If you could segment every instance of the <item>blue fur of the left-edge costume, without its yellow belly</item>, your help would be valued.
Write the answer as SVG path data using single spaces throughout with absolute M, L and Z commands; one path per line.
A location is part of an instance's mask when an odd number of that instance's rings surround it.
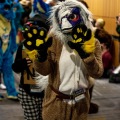
M 16 44 L 16 28 L 14 23 L 15 13 L 13 11 L 12 2 L 12 0 L 5 0 L 4 3 L 0 3 L 0 14 L 10 20 L 11 23 L 9 44 L 5 53 L 2 51 L 2 41 L 0 38 L 0 74 L 3 73 L 3 80 L 7 89 L 7 94 L 9 96 L 17 96 L 18 92 L 15 88 L 14 74 L 12 71 L 14 59 L 13 54 L 18 47 Z M 9 9 L 5 9 L 6 5 Z

